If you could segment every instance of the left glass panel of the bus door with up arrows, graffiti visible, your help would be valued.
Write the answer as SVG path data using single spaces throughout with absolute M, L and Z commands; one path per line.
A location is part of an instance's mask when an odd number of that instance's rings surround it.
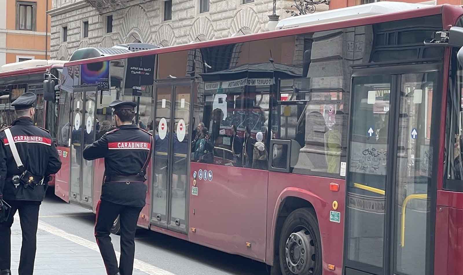
M 355 77 L 347 182 L 347 258 L 383 265 L 391 77 Z

